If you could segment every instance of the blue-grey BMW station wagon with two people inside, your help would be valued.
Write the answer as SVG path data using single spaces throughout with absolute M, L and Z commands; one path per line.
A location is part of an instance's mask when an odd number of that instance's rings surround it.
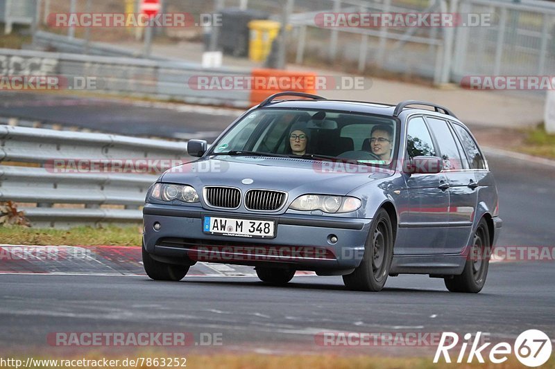
M 198 159 L 162 174 L 144 206 L 143 262 L 181 280 L 196 262 L 255 267 L 281 285 L 296 271 L 381 290 L 428 274 L 479 292 L 502 220 L 484 154 L 454 114 L 398 105 L 270 96 Z

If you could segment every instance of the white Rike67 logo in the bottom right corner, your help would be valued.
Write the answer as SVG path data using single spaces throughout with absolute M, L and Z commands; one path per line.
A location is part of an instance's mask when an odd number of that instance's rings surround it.
M 549 336 L 540 330 L 522 332 L 512 346 L 507 342 L 499 342 L 493 347 L 489 347 L 492 344 L 490 342 L 480 345 L 483 342 L 481 341 L 481 332 L 477 332 L 475 337 L 467 333 L 464 335 L 464 340 L 466 342 L 459 345 L 459 334 L 443 332 L 434 363 L 438 363 L 442 356 L 447 363 L 451 363 L 452 360 L 456 363 L 463 363 L 469 345 L 470 350 L 468 350 L 466 363 L 472 363 L 475 360 L 484 363 L 484 357 L 488 357 L 491 363 L 499 364 L 504 363 L 511 354 L 514 354 L 518 361 L 525 366 L 537 367 L 549 360 L 552 352 L 552 342 Z M 451 354 L 456 354 L 456 356 L 452 359 Z

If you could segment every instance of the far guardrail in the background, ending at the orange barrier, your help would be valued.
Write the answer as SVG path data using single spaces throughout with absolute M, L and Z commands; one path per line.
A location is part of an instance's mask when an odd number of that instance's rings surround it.
M 189 85 L 189 80 L 199 76 L 241 78 L 250 74 L 250 69 L 203 69 L 199 64 L 171 60 L 0 49 L 0 75 L 58 75 L 68 81 L 94 78 L 94 87 L 86 91 L 191 104 L 250 107 L 249 90 Z

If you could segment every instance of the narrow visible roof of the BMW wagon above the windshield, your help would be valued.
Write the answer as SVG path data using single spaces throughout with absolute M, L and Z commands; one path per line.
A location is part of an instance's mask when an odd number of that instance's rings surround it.
M 268 108 L 283 108 L 283 109 L 326 109 L 326 110 L 339 110 L 339 111 L 349 111 L 352 113 L 364 113 L 364 114 L 378 114 L 383 116 L 393 117 L 393 112 L 395 111 L 396 105 L 390 105 L 381 102 L 364 102 L 364 101 L 352 101 L 352 100 L 273 100 L 273 102 L 259 109 Z M 430 114 L 434 116 L 441 116 L 443 118 L 449 118 L 451 120 L 456 120 L 454 116 L 448 114 L 443 114 L 438 111 L 429 109 L 418 109 L 413 107 L 406 107 L 403 109 L 399 116 L 404 116 L 405 114 L 421 113 Z

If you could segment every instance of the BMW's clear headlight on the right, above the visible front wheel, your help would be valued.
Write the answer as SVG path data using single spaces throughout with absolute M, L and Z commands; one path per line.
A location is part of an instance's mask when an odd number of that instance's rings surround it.
M 322 210 L 325 213 L 348 213 L 360 208 L 362 202 L 356 197 L 331 195 L 302 195 L 289 206 L 294 210 Z

